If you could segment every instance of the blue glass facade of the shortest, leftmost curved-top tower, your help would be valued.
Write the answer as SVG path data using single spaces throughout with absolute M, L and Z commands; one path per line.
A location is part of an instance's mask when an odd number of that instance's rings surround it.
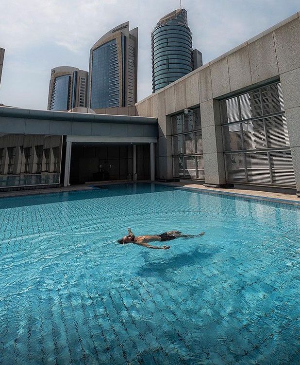
M 54 79 L 50 110 L 68 110 L 70 101 L 71 76 L 63 75 Z

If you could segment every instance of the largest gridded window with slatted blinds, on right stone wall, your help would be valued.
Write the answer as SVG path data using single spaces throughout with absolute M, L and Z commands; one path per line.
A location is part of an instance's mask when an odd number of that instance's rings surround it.
M 281 84 L 220 105 L 227 181 L 295 187 Z

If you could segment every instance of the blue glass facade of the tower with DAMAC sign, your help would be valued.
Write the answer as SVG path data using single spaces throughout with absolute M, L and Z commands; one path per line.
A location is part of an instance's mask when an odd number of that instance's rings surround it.
M 90 107 L 119 107 L 120 77 L 116 39 L 93 50 L 92 57 Z

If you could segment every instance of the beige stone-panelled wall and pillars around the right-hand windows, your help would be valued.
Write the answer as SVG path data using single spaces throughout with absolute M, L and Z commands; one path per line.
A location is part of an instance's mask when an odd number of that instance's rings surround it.
M 292 159 L 300 191 L 300 19 L 283 20 L 137 103 L 139 116 L 158 118 L 159 178 L 171 179 L 172 114 L 200 105 L 205 183 L 226 183 L 217 99 L 280 80 Z

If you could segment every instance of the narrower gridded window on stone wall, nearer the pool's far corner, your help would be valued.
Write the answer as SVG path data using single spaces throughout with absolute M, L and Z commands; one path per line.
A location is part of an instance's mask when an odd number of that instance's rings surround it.
M 200 109 L 171 117 L 173 175 L 204 180 Z

